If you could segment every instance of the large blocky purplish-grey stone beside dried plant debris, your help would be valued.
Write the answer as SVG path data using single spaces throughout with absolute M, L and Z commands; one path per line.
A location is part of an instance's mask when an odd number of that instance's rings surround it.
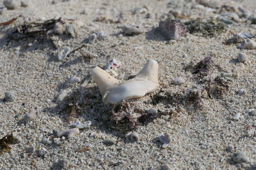
M 186 29 L 178 20 L 166 20 L 159 22 L 159 31 L 166 39 L 179 40 L 186 35 Z

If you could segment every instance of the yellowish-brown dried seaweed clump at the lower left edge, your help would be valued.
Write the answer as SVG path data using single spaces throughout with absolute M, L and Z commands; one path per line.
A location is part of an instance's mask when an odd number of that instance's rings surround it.
M 19 139 L 15 138 L 13 134 L 8 134 L 0 139 L 0 154 L 10 152 L 10 145 L 19 143 Z

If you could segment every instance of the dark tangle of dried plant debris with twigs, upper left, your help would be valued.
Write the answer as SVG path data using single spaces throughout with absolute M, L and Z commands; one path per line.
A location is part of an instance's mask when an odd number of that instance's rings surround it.
M 24 24 L 19 25 L 8 34 L 8 43 L 10 41 L 19 41 L 20 39 L 49 39 L 50 31 L 54 29 L 55 24 L 61 23 L 61 18 L 46 20 L 45 22 L 24 22 Z

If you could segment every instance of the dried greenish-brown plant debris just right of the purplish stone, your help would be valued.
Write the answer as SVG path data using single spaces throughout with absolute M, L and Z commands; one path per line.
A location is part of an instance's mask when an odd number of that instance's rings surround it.
M 184 25 L 190 34 L 196 36 L 213 37 L 218 36 L 226 31 L 226 26 L 221 22 L 214 22 L 213 20 L 189 20 L 184 22 Z

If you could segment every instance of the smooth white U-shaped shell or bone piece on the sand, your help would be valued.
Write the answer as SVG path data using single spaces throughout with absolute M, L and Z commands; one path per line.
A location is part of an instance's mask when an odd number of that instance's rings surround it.
M 156 60 L 148 60 L 137 76 L 123 83 L 99 67 L 92 70 L 92 77 L 99 87 L 102 101 L 117 103 L 126 99 L 143 97 L 155 90 L 158 86 L 158 64 Z

